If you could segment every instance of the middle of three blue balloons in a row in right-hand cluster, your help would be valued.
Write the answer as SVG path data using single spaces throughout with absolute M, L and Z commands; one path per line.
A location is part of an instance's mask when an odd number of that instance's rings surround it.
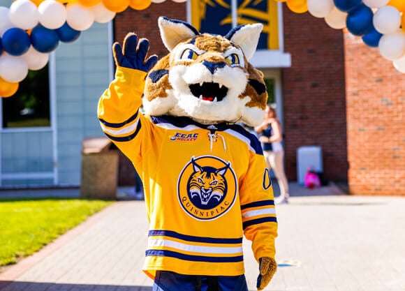
M 346 27 L 355 36 L 364 36 L 373 29 L 373 11 L 369 6 L 360 5 L 346 17 Z

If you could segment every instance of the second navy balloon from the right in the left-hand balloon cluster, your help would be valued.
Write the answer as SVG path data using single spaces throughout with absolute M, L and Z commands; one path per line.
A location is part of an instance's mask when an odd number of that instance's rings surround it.
M 38 52 L 52 52 L 59 45 L 58 33 L 38 24 L 31 31 L 31 44 Z

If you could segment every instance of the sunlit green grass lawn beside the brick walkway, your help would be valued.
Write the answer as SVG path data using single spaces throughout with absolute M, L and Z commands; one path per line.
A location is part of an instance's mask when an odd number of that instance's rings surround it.
M 0 266 L 35 253 L 111 203 L 80 199 L 1 200 Z

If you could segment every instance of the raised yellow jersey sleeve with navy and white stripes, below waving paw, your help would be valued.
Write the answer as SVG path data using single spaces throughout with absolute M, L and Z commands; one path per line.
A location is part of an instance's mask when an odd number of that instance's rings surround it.
M 115 79 L 98 101 L 103 132 L 134 164 L 142 158 L 142 147 L 147 148 L 152 140 L 152 124 L 140 113 L 146 75 L 141 70 L 117 67 Z

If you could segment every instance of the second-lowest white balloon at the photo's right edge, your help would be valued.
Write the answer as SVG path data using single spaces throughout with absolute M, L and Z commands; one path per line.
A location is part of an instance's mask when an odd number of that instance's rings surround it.
M 405 54 L 405 32 L 399 30 L 396 33 L 384 34 L 378 43 L 378 50 L 385 59 L 399 59 Z

